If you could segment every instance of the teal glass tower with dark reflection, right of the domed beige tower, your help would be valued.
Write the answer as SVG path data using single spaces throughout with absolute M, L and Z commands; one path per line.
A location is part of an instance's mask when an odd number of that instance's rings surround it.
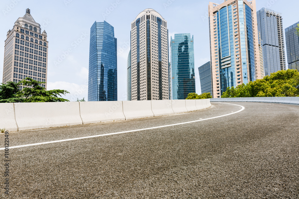
M 175 34 L 170 38 L 171 48 L 171 96 L 172 99 L 186 99 L 195 92 L 193 36 Z

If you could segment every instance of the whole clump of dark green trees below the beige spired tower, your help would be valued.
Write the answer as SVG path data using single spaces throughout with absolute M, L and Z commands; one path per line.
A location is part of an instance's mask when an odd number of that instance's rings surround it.
M 23 89 L 19 90 L 21 84 Z M 68 91 L 46 90 L 40 84 L 45 84 L 45 82 L 36 81 L 28 77 L 18 83 L 7 82 L 7 84 L 2 84 L 0 86 L 0 103 L 69 101 L 61 97 L 61 95 L 69 93 Z

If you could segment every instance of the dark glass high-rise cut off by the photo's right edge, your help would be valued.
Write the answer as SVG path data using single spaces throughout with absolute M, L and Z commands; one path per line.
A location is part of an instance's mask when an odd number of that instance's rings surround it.
M 296 27 L 299 21 L 286 28 L 286 53 L 288 56 L 288 68 L 299 71 L 299 36 Z

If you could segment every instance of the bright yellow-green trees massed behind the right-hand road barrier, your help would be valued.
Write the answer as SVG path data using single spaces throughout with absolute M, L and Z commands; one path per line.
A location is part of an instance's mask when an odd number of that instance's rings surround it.
M 247 85 L 228 87 L 221 97 L 296 97 L 299 96 L 298 85 L 298 70 L 280 70 Z

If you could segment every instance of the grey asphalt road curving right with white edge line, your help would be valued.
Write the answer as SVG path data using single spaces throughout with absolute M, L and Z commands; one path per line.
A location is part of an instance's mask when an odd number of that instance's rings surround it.
M 179 115 L 12 132 L 9 197 L 299 198 L 299 106 L 212 102 Z M 4 134 L 0 134 L 0 148 Z M 0 150 L 4 155 L 4 150 Z M 4 156 L 2 156 L 4 160 Z M 3 163 L 3 161 L 2 161 Z

